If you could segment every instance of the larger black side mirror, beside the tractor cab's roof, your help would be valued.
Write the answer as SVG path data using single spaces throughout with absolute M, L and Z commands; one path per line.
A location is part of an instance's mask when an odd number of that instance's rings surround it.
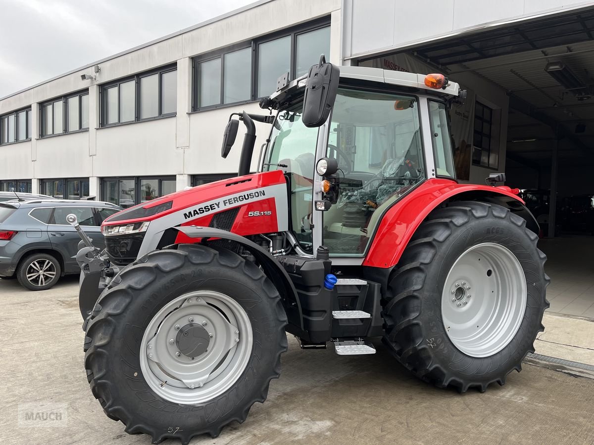
M 318 65 L 309 68 L 301 116 L 305 126 L 319 127 L 326 122 L 336 100 L 339 78 L 338 66 L 326 63 L 324 55 L 320 56 Z

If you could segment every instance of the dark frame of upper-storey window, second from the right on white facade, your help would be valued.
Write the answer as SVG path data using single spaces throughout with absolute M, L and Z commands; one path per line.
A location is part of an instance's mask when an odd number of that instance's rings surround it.
M 163 117 L 171 117 L 171 116 L 176 116 L 177 110 L 175 110 L 175 112 L 171 112 L 171 113 L 163 113 L 163 100 L 162 100 L 162 88 L 163 88 L 163 80 L 162 80 L 162 75 L 168 72 L 172 72 L 178 71 L 178 65 L 177 63 L 173 63 L 173 64 L 169 64 L 169 65 L 165 65 L 165 66 L 161 66 L 160 68 L 156 68 L 156 69 L 151 69 L 150 71 L 143 71 L 131 76 L 127 76 L 127 77 L 123 77 L 121 79 L 112 81 L 112 82 L 107 82 L 105 84 L 99 85 L 99 104 L 100 104 L 100 113 L 99 113 L 99 128 L 106 128 L 106 127 L 112 127 L 112 126 L 117 126 L 117 125 L 126 125 L 128 123 L 134 123 L 134 122 L 146 122 L 147 120 L 155 120 L 155 119 L 163 119 Z M 149 77 L 151 75 L 157 75 L 157 116 L 151 116 L 151 117 L 144 117 L 144 119 L 142 119 L 140 117 L 140 110 L 141 110 L 141 106 L 142 106 L 142 98 L 141 98 L 141 90 L 140 90 L 140 80 L 141 78 L 144 77 Z M 126 82 L 129 81 L 134 81 L 134 119 L 133 120 L 126 120 L 125 122 L 121 122 L 121 116 L 120 116 L 120 112 L 121 112 L 121 93 L 120 93 L 120 87 L 121 84 L 125 84 Z M 107 123 L 107 116 L 108 116 L 108 106 L 107 106 L 107 101 L 108 101 L 108 97 L 107 94 L 105 94 L 105 91 L 108 90 L 109 88 L 112 87 L 118 87 L 118 122 L 113 122 L 113 123 Z M 176 88 L 179 85 L 176 84 Z M 175 98 L 175 101 L 177 103 L 177 95 Z

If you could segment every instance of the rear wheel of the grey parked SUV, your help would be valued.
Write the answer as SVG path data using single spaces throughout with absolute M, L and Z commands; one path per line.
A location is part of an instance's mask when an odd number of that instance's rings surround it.
M 31 291 L 43 291 L 53 287 L 62 269 L 59 261 L 48 253 L 34 253 L 23 259 L 17 268 L 19 284 Z

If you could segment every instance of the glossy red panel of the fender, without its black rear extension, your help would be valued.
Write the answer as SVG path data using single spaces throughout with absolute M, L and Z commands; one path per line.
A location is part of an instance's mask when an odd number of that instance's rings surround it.
M 406 244 L 431 211 L 447 199 L 464 192 L 504 195 L 525 204 L 510 187 L 458 184 L 448 179 L 429 179 L 388 209 L 371 241 L 364 266 L 391 268 L 400 260 Z

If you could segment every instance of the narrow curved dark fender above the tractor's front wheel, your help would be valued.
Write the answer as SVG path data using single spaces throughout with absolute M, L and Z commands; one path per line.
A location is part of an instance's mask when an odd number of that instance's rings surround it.
M 200 226 L 175 227 L 175 229 L 179 230 L 186 237 L 204 240 L 207 245 L 207 240 L 210 238 L 224 239 L 235 241 L 249 250 L 264 269 L 264 274 L 268 276 L 279 291 L 289 324 L 299 326 L 303 329 L 301 304 L 299 303 L 299 298 L 297 298 L 295 285 L 293 285 L 293 282 L 289 278 L 289 274 L 287 274 L 285 269 L 283 269 L 280 263 L 270 253 L 247 238 L 226 230 Z

